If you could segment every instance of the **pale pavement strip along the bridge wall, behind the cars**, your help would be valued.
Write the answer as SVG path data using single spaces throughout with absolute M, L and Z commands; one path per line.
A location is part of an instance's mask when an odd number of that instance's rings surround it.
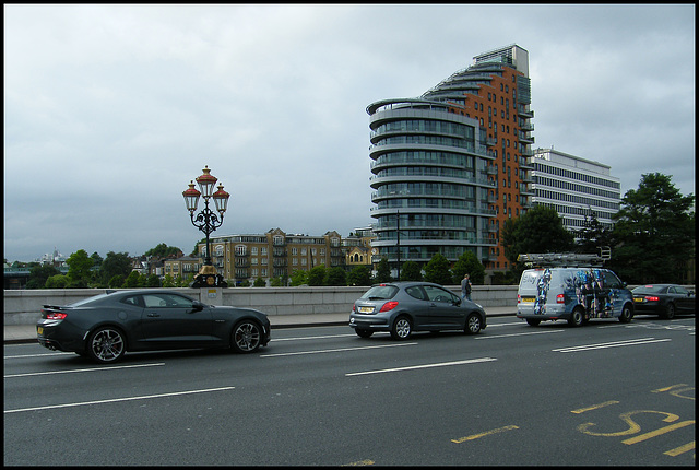
M 514 316 L 514 307 L 488 307 L 485 309 L 488 317 Z M 350 313 L 346 314 L 298 314 L 298 315 L 270 315 L 272 329 L 324 327 L 331 325 L 348 325 Z M 32 343 L 36 341 L 36 325 L 5 325 L 4 343 Z

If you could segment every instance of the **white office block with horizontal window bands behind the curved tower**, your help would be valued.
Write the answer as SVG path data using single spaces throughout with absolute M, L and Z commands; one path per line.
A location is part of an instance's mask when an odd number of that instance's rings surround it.
M 536 149 L 531 172 L 534 190 L 532 205 L 550 207 L 569 231 L 579 231 L 594 215 L 605 227 L 621 200 L 619 178 L 609 166 L 552 149 Z

